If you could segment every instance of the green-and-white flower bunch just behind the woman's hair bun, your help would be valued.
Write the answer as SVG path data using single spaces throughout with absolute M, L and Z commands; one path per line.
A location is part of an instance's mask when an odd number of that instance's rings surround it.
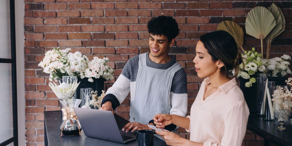
M 237 77 L 249 79 L 249 81 L 245 83 L 246 87 L 251 87 L 252 84 L 256 82 L 256 73 L 261 72 L 263 67 L 262 55 L 258 54 L 255 50 L 255 48 L 252 48 L 252 51 L 244 51 L 244 54 L 241 54 L 243 63 L 239 65 Z

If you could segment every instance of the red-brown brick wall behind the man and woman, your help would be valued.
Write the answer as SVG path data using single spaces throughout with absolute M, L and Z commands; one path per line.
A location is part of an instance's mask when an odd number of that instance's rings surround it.
M 274 41 L 271 58 L 291 55 L 292 2 L 276 1 L 286 18 L 286 30 Z M 44 145 L 44 111 L 60 110 L 58 99 L 48 86 L 48 75 L 38 63 L 53 47 L 72 48 L 90 59 L 108 57 L 115 69 L 112 86 L 126 61 L 149 51 L 147 21 L 151 17 L 175 17 L 181 29 L 170 54 L 187 73 L 189 111 L 202 79 L 196 76 L 192 62 L 199 36 L 216 30 L 223 20 L 233 20 L 244 28 L 246 14 L 255 6 L 270 6 L 271 1 L 252 0 L 25 0 L 25 118 L 27 146 Z M 260 45 L 246 35 L 244 48 Z M 260 51 L 258 49 L 258 51 Z M 116 113 L 129 118 L 129 98 Z M 180 128 L 181 137 L 189 134 Z M 243 146 L 263 145 L 263 138 L 247 130 Z

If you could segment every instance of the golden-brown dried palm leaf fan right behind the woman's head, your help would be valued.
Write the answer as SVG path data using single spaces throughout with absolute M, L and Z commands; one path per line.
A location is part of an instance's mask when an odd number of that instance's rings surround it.
M 230 35 L 232 35 L 236 41 L 237 48 L 241 48 L 241 50 L 244 52 L 244 49 L 242 47 L 244 32 L 237 23 L 228 20 L 222 21 L 217 27 L 217 31 L 218 30 L 224 30 L 225 32 L 228 32 Z

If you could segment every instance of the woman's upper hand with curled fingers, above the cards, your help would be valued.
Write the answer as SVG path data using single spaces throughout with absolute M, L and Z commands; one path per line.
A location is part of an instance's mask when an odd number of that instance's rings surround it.
M 157 114 L 153 117 L 153 120 L 154 124 L 159 128 L 164 128 L 172 123 L 172 117 L 170 114 Z

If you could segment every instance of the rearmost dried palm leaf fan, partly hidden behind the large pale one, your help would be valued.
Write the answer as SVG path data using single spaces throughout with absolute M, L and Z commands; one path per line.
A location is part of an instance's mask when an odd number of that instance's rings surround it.
M 269 59 L 271 44 L 274 39 L 285 30 L 285 18 L 281 9 L 276 6 L 274 3 L 268 8 L 269 11 L 273 14 L 276 20 L 276 26 L 272 31 L 267 35 L 265 41 L 267 42 L 267 59 Z

